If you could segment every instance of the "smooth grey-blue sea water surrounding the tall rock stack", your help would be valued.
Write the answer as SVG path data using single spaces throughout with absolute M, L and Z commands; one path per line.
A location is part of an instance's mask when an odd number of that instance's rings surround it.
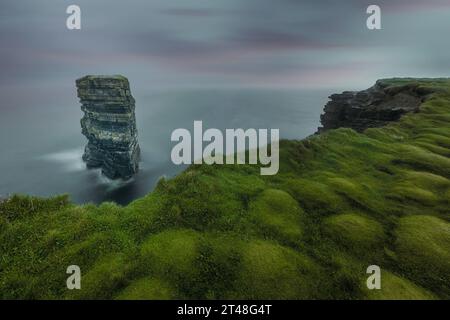
M 135 94 L 140 172 L 130 181 L 110 181 L 81 160 L 85 137 L 76 97 L 67 105 L 37 99 L 37 104 L 2 109 L 0 117 L 0 196 L 25 193 L 50 196 L 68 193 L 77 203 L 105 200 L 126 204 L 151 191 L 162 176 L 184 167 L 173 165 L 170 135 L 207 128 L 278 128 L 281 138 L 301 139 L 319 126 L 330 91 L 182 90 Z

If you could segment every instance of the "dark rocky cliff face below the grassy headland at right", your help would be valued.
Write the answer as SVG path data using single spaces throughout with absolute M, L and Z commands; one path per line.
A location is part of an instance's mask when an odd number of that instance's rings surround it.
M 320 116 L 318 133 L 341 127 L 362 132 L 384 126 L 407 112 L 416 112 L 431 93 L 415 84 L 392 86 L 379 80 L 367 90 L 333 94 Z

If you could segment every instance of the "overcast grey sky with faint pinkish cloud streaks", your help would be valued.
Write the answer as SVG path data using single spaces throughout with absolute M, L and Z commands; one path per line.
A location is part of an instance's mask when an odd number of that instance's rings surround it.
M 70 4 L 82 30 L 66 29 Z M 370 4 L 382 30 L 366 28 Z M 449 33 L 450 0 L 1 0 L 0 95 L 57 94 L 85 74 L 138 90 L 359 89 L 449 76 Z

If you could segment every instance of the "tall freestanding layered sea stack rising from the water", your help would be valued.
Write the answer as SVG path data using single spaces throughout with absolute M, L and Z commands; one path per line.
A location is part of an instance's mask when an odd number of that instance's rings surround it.
M 135 100 L 123 76 L 85 76 L 76 81 L 88 139 L 83 160 L 111 179 L 127 179 L 139 168 Z

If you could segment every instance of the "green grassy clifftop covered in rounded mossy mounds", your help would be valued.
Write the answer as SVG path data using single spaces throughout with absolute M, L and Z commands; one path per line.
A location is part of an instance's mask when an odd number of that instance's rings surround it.
M 126 207 L 3 201 L 0 298 L 449 299 L 450 80 L 386 82 L 436 93 L 384 128 L 282 141 L 276 176 L 201 165 Z

